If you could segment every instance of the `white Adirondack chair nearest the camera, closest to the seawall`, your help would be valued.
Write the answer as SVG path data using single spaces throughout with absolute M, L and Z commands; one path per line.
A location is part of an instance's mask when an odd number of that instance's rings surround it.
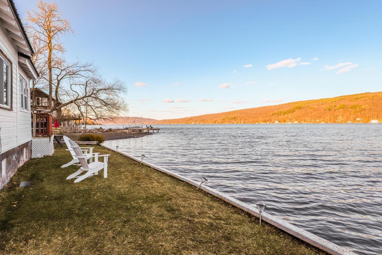
M 87 178 L 93 174 L 97 175 L 98 171 L 100 171 L 102 169 L 104 169 L 104 178 L 107 178 L 107 160 L 108 160 L 108 156 L 110 156 L 110 154 L 98 155 L 99 154 L 98 152 L 93 153 L 94 162 L 88 164 L 87 163 L 87 157 L 82 154 L 82 151 L 78 147 L 78 145 L 71 140 L 69 141 L 69 143 L 71 144 L 70 146 L 73 149 L 74 153 L 76 154 L 75 157 L 81 163 L 81 168 L 79 168 L 79 170 L 77 172 L 69 175 L 66 178 L 66 180 L 76 178 L 80 173 L 86 172 L 84 175 L 81 175 L 80 177 L 78 177 L 74 181 L 74 183 L 78 183 L 78 182 L 84 180 L 85 178 Z M 104 162 L 99 162 L 98 157 L 104 157 Z

